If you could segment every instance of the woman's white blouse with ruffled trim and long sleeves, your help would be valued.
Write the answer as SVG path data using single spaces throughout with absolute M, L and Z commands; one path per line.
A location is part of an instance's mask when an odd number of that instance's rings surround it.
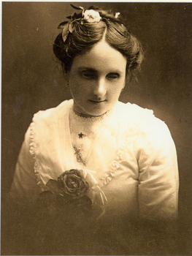
M 152 110 L 117 102 L 99 117 L 77 116 L 73 100 L 39 111 L 26 132 L 10 195 L 31 203 L 65 170 L 80 168 L 107 198 L 107 214 L 177 217 L 177 154 Z M 91 188 L 90 188 L 91 189 Z

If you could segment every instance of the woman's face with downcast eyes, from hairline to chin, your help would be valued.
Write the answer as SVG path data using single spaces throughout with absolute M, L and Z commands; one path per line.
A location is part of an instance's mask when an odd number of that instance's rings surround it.
M 125 81 L 126 57 L 107 42 L 98 42 L 75 56 L 69 71 L 74 110 L 88 116 L 106 113 L 118 101 Z

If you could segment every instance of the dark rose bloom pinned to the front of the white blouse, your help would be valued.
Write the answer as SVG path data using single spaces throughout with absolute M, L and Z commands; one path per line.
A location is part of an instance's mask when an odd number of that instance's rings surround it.
M 85 195 L 88 190 L 88 182 L 80 175 L 78 170 L 66 170 L 58 177 L 58 182 L 62 184 L 65 194 L 75 199 Z

